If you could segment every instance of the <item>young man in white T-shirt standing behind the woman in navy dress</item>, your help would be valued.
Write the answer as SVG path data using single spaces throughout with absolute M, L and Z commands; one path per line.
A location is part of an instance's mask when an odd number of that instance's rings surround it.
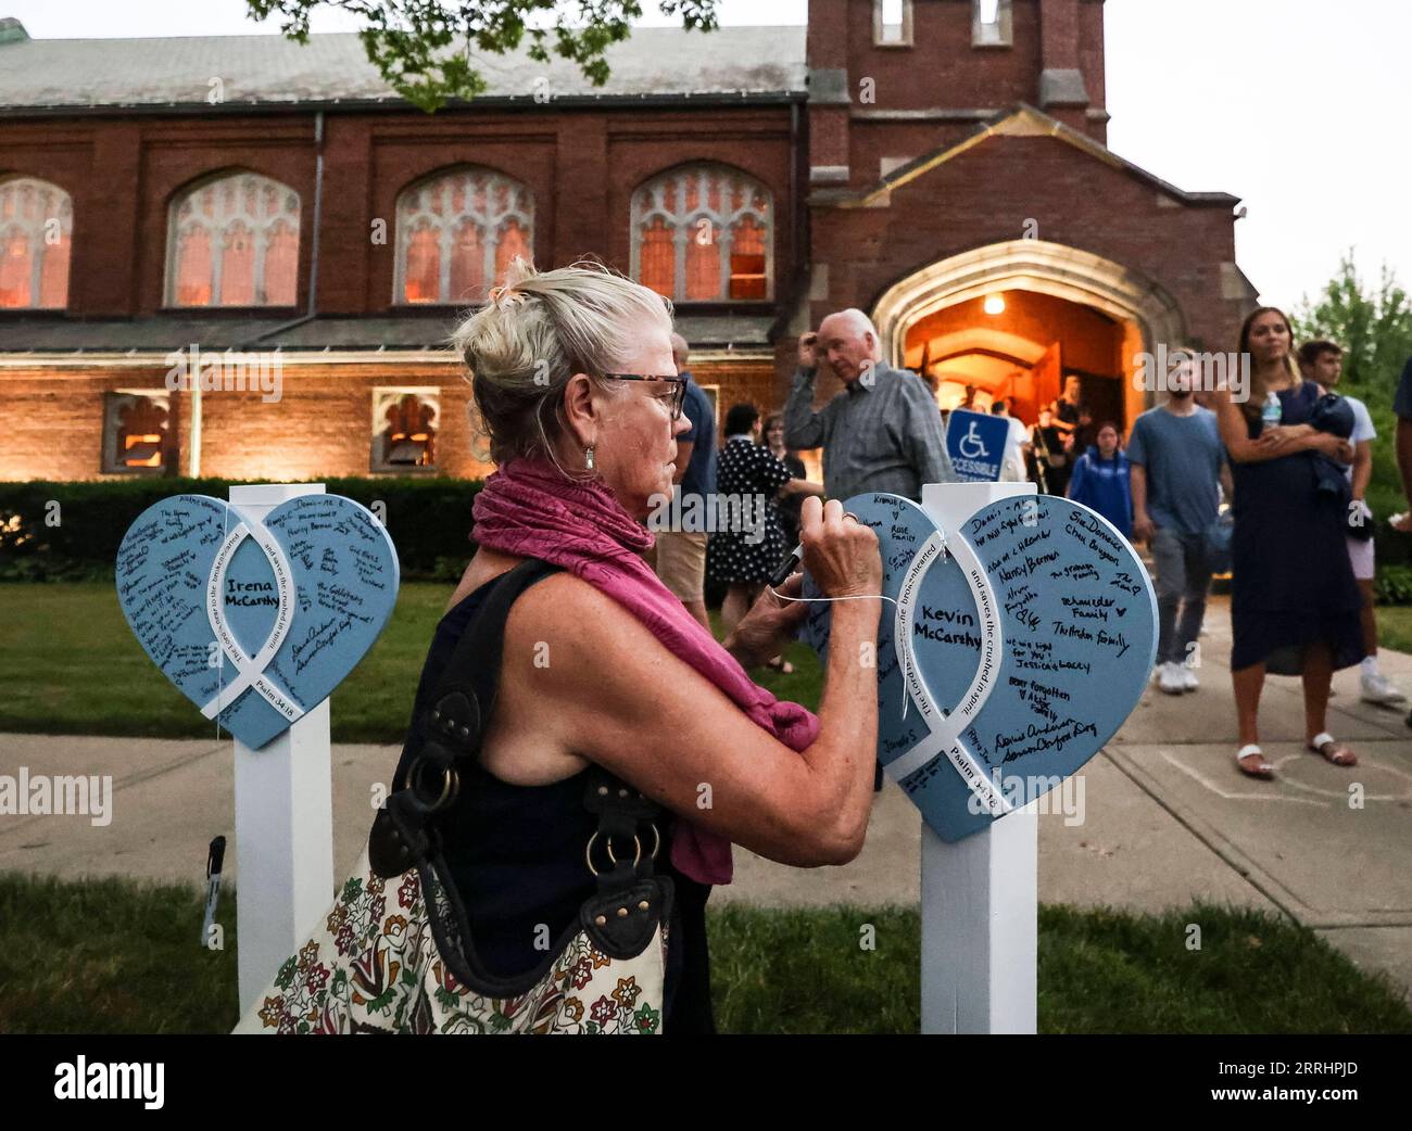
M 1343 350 L 1332 341 L 1306 341 L 1299 347 L 1299 371 L 1305 381 L 1316 382 L 1324 392 L 1336 392 L 1339 378 L 1343 377 Z M 1372 512 L 1364 501 L 1368 479 L 1372 478 L 1372 440 L 1378 437 L 1378 433 L 1372 427 L 1368 408 L 1358 398 L 1346 393 L 1340 393 L 1340 396 L 1348 402 L 1354 419 L 1353 434 L 1348 437 L 1354 457 L 1347 470 L 1356 505 L 1356 509 L 1350 511 L 1348 515 L 1348 561 L 1353 564 L 1353 577 L 1363 594 L 1363 649 L 1367 653 L 1360 664 L 1358 690 L 1364 702 L 1380 707 L 1402 707 L 1408 697 L 1389 684 L 1378 670 Z

